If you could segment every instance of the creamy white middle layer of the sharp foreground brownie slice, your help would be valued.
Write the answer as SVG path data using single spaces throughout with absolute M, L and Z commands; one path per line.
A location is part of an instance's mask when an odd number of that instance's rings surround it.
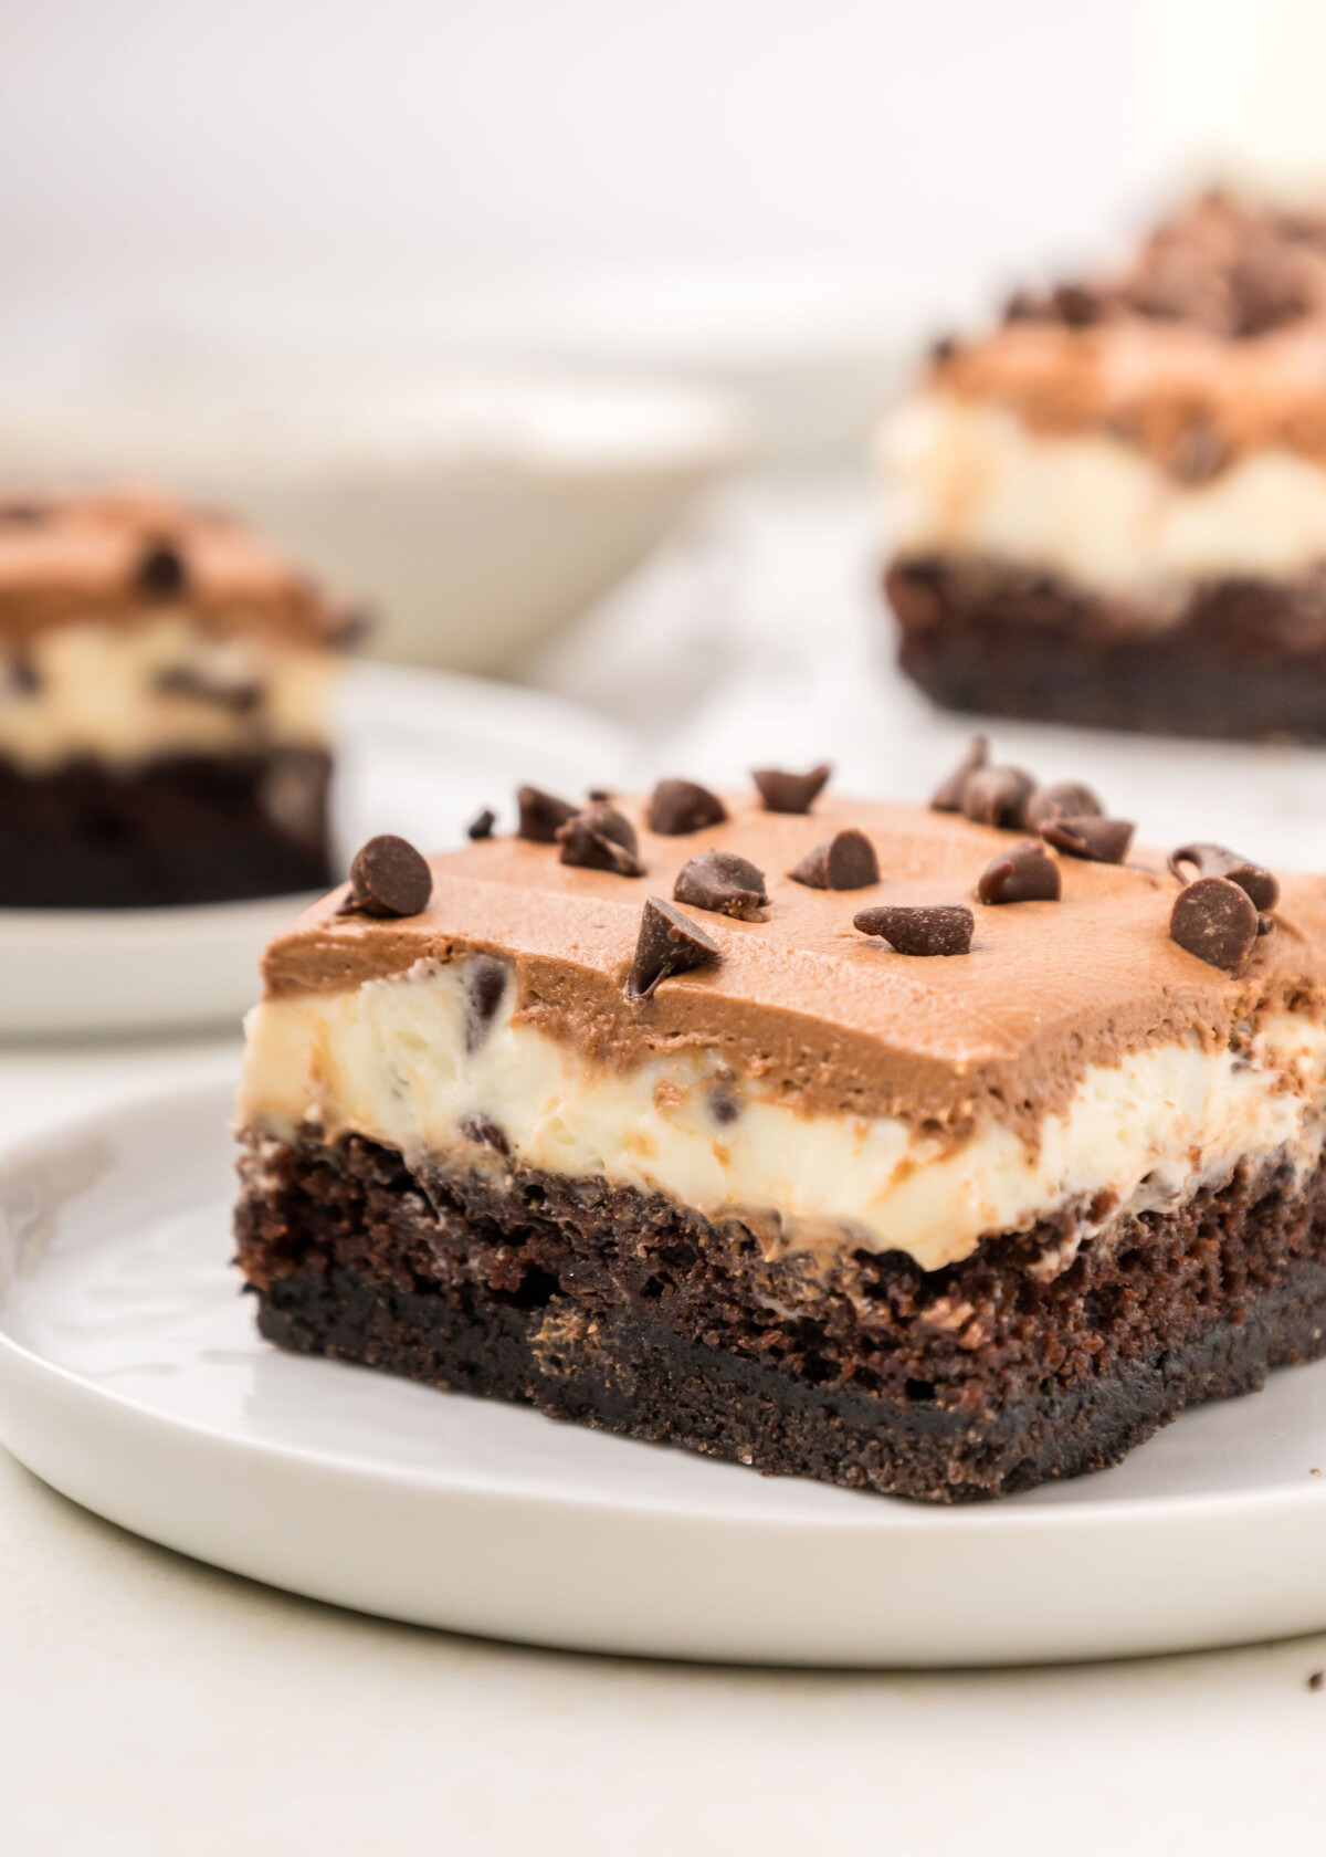
M 1311 1164 L 1322 1142 L 1326 1027 L 1300 1016 L 1268 1019 L 1242 1057 L 1163 1044 L 1090 1068 L 1033 1151 L 999 1125 L 953 1148 L 890 1116 L 802 1114 L 693 1053 L 602 1070 L 513 1021 L 513 995 L 483 1036 L 464 966 L 267 1001 L 249 1018 L 240 1123 L 353 1131 L 410 1164 L 479 1161 L 490 1123 L 526 1166 L 665 1192 L 709 1220 L 773 1216 L 778 1248 L 901 1250 L 925 1270 L 1081 1198 L 1166 1205 L 1241 1161 Z

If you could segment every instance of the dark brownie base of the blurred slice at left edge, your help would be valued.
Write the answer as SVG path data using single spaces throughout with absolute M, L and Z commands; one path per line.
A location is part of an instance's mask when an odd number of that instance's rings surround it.
M 331 758 L 176 756 L 132 771 L 0 761 L 0 908 L 234 903 L 334 882 Z

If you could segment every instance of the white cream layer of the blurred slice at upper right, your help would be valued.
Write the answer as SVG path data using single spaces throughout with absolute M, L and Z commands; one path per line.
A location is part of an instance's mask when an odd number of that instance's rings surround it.
M 1291 579 L 1326 561 L 1326 470 L 1283 448 L 1183 485 L 1107 433 L 1047 438 L 925 394 L 880 429 L 901 555 L 977 553 L 1164 602 L 1194 579 Z

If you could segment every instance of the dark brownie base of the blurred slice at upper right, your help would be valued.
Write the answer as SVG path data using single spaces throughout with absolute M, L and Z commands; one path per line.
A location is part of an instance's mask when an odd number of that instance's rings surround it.
M 947 709 L 1228 739 L 1326 739 L 1326 578 L 1220 579 L 1163 626 L 1049 574 L 895 561 L 899 663 Z

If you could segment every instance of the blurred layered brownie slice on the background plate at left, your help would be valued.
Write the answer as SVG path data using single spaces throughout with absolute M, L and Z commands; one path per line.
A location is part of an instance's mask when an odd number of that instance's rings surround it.
M 0 498 L 0 906 L 321 890 L 347 620 L 225 516 Z

